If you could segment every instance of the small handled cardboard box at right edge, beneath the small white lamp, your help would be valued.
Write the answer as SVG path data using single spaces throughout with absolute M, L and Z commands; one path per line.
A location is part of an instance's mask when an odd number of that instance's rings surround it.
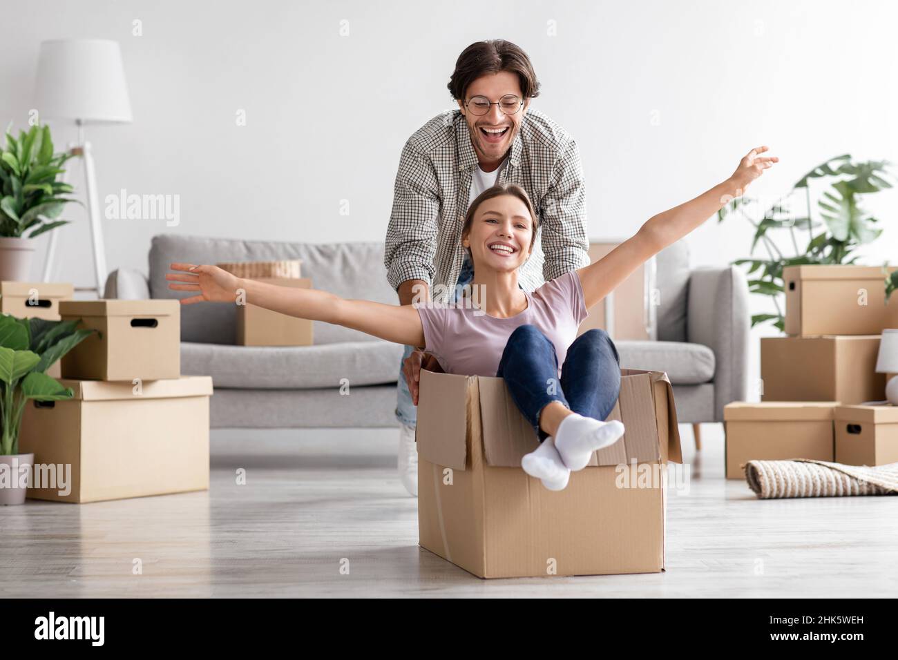
M 836 462 L 898 462 L 898 406 L 839 406 L 835 409 L 835 428 Z

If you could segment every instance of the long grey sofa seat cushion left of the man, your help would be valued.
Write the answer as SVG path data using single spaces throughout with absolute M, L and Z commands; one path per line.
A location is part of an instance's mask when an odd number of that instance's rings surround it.
M 381 339 L 321 346 L 222 346 L 189 341 L 180 344 L 182 374 L 212 376 L 218 388 L 339 388 L 395 383 L 402 347 Z

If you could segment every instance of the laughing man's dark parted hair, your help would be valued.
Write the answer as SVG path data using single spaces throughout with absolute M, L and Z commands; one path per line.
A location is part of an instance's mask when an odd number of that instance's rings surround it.
M 462 50 L 446 86 L 453 99 L 464 101 L 464 94 L 471 83 L 481 75 L 497 74 L 500 71 L 517 74 L 524 99 L 535 99 L 540 95 L 540 82 L 536 79 L 530 57 L 527 57 L 523 48 L 504 39 L 475 41 Z

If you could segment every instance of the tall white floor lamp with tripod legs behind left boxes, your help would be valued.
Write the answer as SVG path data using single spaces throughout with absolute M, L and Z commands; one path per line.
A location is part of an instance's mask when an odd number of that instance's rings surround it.
M 84 140 L 88 124 L 120 124 L 131 121 L 131 102 L 125 82 L 121 50 L 117 41 L 99 39 L 51 40 L 40 44 L 35 107 L 40 121 L 64 119 L 78 127 L 78 142 L 70 153 L 84 159 L 84 184 L 87 215 L 91 223 L 93 270 L 96 286 L 75 287 L 76 291 L 95 291 L 103 296 L 107 276 L 106 251 L 97 180 L 91 144 Z M 58 232 L 49 233 L 43 281 L 49 281 L 56 251 Z

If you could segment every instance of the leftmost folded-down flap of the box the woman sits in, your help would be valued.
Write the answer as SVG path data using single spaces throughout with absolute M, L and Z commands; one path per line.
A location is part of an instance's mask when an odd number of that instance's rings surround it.
M 476 376 L 435 374 L 421 369 L 418 383 L 418 454 L 453 470 L 464 470 L 468 457 L 468 424 Z

